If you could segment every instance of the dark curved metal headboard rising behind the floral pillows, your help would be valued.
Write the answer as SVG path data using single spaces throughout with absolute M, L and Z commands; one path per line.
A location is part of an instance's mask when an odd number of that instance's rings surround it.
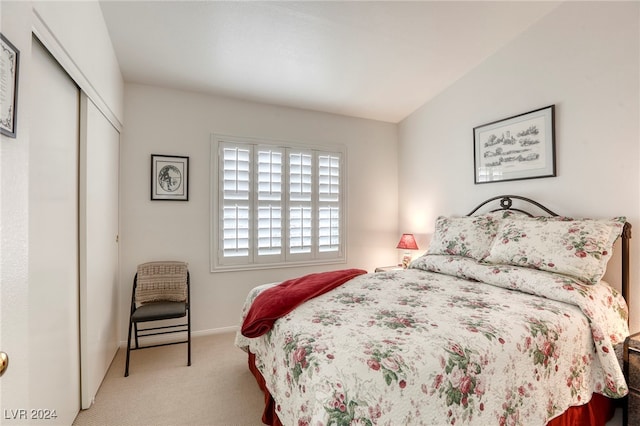
M 498 201 L 499 200 L 499 201 Z M 523 207 L 513 207 L 513 200 L 520 200 Z M 498 202 L 498 207 L 492 207 L 491 203 L 494 201 Z M 494 203 L 495 204 L 495 203 Z M 539 216 L 539 214 L 534 214 L 530 210 L 536 210 L 544 212 L 545 215 L 554 217 L 559 216 L 557 213 L 543 206 L 537 201 L 534 201 L 530 198 L 521 197 L 519 195 L 498 195 L 496 197 L 489 198 L 488 200 L 480 203 L 475 209 L 471 210 L 467 214 L 467 216 L 472 216 L 474 213 L 478 212 L 481 209 L 487 209 L 490 212 L 496 212 L 500 210 L 511 210 L 519 213 L 526 214 L 527 216 L 534 217 Z M 621 271 L 621 289 L 622 289 L 622 297 L 629 303 L 629 240 L 631 239 L 631 224 L 629 222 L 625 222 L 624 228 L 622 229 L 622 271 Z

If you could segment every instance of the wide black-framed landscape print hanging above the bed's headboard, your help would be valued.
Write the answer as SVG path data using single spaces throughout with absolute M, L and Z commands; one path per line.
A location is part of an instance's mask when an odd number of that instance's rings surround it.
M 555 105 L 473 129 L 475 183 L 556 175 Z

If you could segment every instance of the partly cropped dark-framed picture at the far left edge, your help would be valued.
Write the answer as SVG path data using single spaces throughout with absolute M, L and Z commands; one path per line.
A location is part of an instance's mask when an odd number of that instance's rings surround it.
M 20 52 L 0 33 L 0 132 L 16 137 Z

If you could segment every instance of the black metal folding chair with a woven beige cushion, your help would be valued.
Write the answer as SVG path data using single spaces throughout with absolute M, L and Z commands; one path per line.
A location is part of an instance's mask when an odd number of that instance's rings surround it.
M 187 365 L 191 365 L 191 305 L 190 274 L 185 262 L 147 262 L 138 265 L 133 279 L 131 312 L 129 314 L 129 337 L 127 339 L 127 362 L 124 376 L 129 375 L 131 351 L 158 346 L 187 344 Z M 186 322 L 174 325 L 140 328 L 140 323 L 150 323 L 175 318 Z M 131 347 L 131 334 L 135 346 Z M 186 340 L 141 346 L 139 338 L 172 333 L 186 333 Z

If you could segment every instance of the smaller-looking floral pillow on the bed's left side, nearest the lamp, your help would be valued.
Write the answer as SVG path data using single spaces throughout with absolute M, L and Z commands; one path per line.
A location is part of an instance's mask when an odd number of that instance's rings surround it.
M 489 255 L 501 220 L 511 216 L 497 211 L 479 216 L 436 219 L 436 227 L 426 254 L 448 254 L 482 260 Z

